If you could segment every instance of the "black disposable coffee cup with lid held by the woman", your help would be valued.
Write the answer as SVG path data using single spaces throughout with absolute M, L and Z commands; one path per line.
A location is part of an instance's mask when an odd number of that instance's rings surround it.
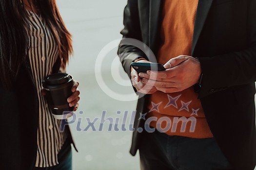
M 74 107 L 69 107 L 67 99 L 72 95 L 73 77 L 66 73 L 51 74 L 44 78 L 46 101 L 55 119 L 67 119 L 73 115 Z

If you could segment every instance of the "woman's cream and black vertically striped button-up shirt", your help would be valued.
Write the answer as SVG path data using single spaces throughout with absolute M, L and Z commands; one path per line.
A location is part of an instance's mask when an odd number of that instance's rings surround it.
M 30 11 L 27 12 L 30 26 L 27 30 L 30 44 L 28 57 L 39 99 L 36 167 L 45 168 L 59 164 L 58 153 L 66 139 L 66 135 L 59 132 L 61 120 L 54 119 L 41 94 L 42 80 L 52 73 L 59 51 L 56 39 L 45 19 Z

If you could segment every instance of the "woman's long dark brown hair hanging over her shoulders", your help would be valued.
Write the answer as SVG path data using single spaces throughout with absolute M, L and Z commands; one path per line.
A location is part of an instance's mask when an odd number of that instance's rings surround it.
M 72 40 L 60 17 L 56 0 L 29 0 L 29 3 L 36 4 L 54 33 L 62 61 L 61 68 L 65 68 L 73 51 Z M 29 50 L 27 19 L 23 0 L 0 0 L 0 84 L 8 89 Z

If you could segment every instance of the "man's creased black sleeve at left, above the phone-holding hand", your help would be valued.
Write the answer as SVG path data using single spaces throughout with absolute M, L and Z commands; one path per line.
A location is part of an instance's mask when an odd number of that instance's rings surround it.
M 139 58 L 145 58 L 145 53 L 142 52 L 136 45 L 129 42 L 127 45 L 127 38 L 133 38 L 141 41 L 141 29 L 138 15 L 138 0 L 128 0 L 126 7 L 124 8 L 123 17 L 124 29 L 121 31 L 123 39 L 121 40 L 118 48 L 118 56 L 125 72 L 130 76 L 131 66 L 130 64 Z M 135 43 L 136 44 L 136 43 Z

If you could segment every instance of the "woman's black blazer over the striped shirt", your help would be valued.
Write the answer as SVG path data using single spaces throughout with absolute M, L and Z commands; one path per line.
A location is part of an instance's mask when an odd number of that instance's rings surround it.
M 39 101 L 31 69 L 23 64 L 12 90 L 0 85 L 0 169 L 32 170 L 37 156 Z M 53 73 L 59 71 L 60 59 Z M 74 143 L 67 127 L 68 139 Z

